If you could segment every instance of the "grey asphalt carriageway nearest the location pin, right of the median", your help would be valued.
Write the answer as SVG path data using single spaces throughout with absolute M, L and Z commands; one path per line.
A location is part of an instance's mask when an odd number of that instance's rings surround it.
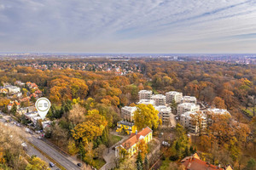
M 3 115 L 3 118 L 7 119 L 10 116 Z M 5 122 L 3 119 L 0 119 L 0 122 Z M 37 138 L 37 134 L 30 134 L 25 133 L 25 127 L 16 127 L 12 123 L 6 123 L 9 127 L 12 127 L 15 129 L 15 131 L 20 133 L 20 136 L 27 139 L 29 142 L 34 144 L 39 150 L 43 151 L 44 154 L 58 162 L 62 167 L 65 167 L 67 170 L 80 170 L 80 168 L 76 165 L 77 160 L 73 160 L 70 156 L 64 156 L 57 150 L 55 150 L 53 147 L 51 147 L 49 144 L 46 144 L 42 139 Z M 43 158 L 44 157 L 40 157 Z M 47 159 L 48 160 L 48 159 Z M 75 162 L 75 163 L 74 163 Z M 49 161 L 48 161 L 49 163 Z M 57 167 L 55 167 L 57 168 Z

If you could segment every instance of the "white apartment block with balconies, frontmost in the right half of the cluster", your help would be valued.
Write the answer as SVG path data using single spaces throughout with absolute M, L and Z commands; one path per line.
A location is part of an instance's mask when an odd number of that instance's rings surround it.
M 205 116 L 202 112 L 201 112 L 201 127 L 199 126 L 199 122 L 196 122 L 198 119 L 196 119 L 196 117 L 199 115 L 200 111 L 188 111 L 183 113 L 180 116 L 180 122 L 181 125 L 183 125 L 183 127 L 187 127 L 189 129 L 190 132 L 192 133 L 199 133 L 200 130 L 203 130 L 207 127 L 207 116 Z M 192 118 L 191 115 L 195 116 L 195 119 Z M 201 129 L 200 129 L 201 128 Z

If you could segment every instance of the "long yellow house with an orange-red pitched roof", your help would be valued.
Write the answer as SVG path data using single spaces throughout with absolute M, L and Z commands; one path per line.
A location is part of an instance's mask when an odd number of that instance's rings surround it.
M 144 139 L 146 144 L 152 140 L 152 130 L 149 127 L 143 128 L 139 133 L 131 133 L 129 139 L 115 147 L 115 156 L 119 157 L 121 150 L 126 150 L 128 156 L 131 157 L 137 153 L 137 144 Z

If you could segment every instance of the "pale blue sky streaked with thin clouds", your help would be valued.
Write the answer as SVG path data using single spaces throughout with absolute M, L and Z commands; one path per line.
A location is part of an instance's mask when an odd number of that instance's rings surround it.
M 256 0 L 0 0 L 0 52 L 256 53 Z

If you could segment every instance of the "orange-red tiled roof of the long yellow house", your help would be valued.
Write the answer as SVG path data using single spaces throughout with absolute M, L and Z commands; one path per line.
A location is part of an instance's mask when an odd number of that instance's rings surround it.
M 151 133 L 152 130 L 149 127 L 143 128 L 143 130 L 141 130 L 139 133 L 135 134 L 135 133 L 131 133 L 129 139 L 126 139 L 125 142 L 123 144 L 121 144 L 126 150 L 128 150 L 129 148 L 131 148 L 131 146 L 133 144 L 137 144 L 137 142 L 139 141 L 140 137 L 143 136 L 147 136 L 148 133 Z

